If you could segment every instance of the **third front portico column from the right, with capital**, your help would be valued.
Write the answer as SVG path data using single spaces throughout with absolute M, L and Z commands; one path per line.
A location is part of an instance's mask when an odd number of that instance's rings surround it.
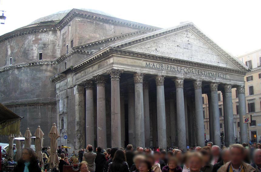
M 218 101 L 218 83 L 211 83 L 211 107 L 213 120 L 213 141 L 214 144 L 221 147 L 220 125 L 219 125 L 219 101 Z

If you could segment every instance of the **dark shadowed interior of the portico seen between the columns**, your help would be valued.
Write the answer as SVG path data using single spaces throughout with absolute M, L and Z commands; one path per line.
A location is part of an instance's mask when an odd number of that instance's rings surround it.
M 105 83 L 105 106 L 106 106 L 106 116 L 102 119 L 97 119 L 97 87 L 95 78 L 90 80 L 93 81 L 93 110 L 94 110 L 94 145 L 97 146 L 97 130 L 99 130 L 99 126 L 97 126 L 97 120 L 105 120 L 106 119 L 106 140 L 107 147 L 111 147 L 111 79 L 110 75 L 104 73 L 102 75 L 106 81 Z M 149 116 L 145 116 L 149 118 L 149 132 L 145 129 L 145 135 L 149 134 L 149 144 L 145 145 L 145 147 L 157 146 L 158 144 L 158 119 L 157 119 L 157 86 L 155 82 L 155 75 L 146 74 L 143 78 L 143 83 L 147 82 L 148 86 L 148 97 L 149 97 Z M 176 86 L 173 81 L 173 77 L 165 77 L 164 78 L 164 103 L 165 103 L 165 121 L 166 126 L 166 143 L 167 146 L 175 146 L 178 145 L 178 123 L 177 123 L 177 99 L 176 96 Z M 210 95 L 210 83 L 202 82 L 202 94 L 206 93 Z M 224 90 L 224 86 L 220 84 L 218 86 L 219 90 Z M 186 145 L 198 145 L 197 137 L 197 123 L 196 123 L 196 112 L 195 112 L 195 88 L 193 86 L 193 80 L 184 79 L 184 112 L 185 112 L 185 135 L 183 136 L 182 142 L 185 142 Z M 124 71 L 120 75 L 120 132 L 121 132 L 121 145 L 125 147 L 127 144 L 136 145 L 135 142 L 130 141 L 130 126 L 129 126 L 129 113 L 131 110 L 135 110 L 135 104 L 131 104 L 130 94 L 133 94 L 132 98 L 134 98 L 134 73 L 128 73 Z M 86 100 L 86 93 L 85 100 Z M 129 104 L 130 103 L 130 104 Z M 85 102 L 86 104 L 86 102 Z M 144 105 L 145 106 L 145 105 Z M 98 108 L 99 110 L 99 108 Z M 85 106 L 86 112 L 86 106 Z M 135 112 L 130 115 L 135 116 Z M 88 118 L 88 114 L 85 114 Z M 88 120 L 88 119 L 87 119 Z M 135 117 L 134 117 L 135 120 Z M 203 121 L 202 116 L 202 121 Z M 134 121 L 135 122 L 135 121 Z M 204 124 L 204 123 L 203 123 Z M 208 122 L 209 125 L 209 122 Z M 145 126 L 144 126 L 145 127 Z M 204 126 L 201 126 L 204 127 Z M 205 126 L 209 127 L 209 126 Z M 97 130 L 96 130 L 97 129 Z M 137 127 L 135 128 L 137 129 Z M 86 128 L 88 130 L 88 128 Z M 131 129 L 132 130 L 132 129 Z M 86 133 L 86 131 L 85 131 Z M 162 133 L 164 135 L 164 133 Z M 204 133 L 203 133 L 204 134 Z M 135 134 L 134 134 L 135 135 Z M 88 140 L 86 140 L 86 144 L 88 144 Z

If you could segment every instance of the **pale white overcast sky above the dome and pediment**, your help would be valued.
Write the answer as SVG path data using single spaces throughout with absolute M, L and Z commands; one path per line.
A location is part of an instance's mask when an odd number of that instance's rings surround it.
M 234 56 L 261 49 L 261 1 L 258 0 L 0 0 L 0 10 L 6 11 L 7 17 L 5 25 L 0 25 L 0 35 L 70 8 L 97 9 L 162 28 L 192 21 Z

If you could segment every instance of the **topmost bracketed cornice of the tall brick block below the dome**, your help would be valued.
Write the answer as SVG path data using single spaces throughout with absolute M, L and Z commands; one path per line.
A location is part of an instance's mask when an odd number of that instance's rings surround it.
M 158 28 L 155 26 L 145 25 L 145 24 L 137 23 L 137 22 L 131 22 L 128 20 L 118 19 L 116 17 L 110 17 L 107 15 L 96 14 L 93 12 L 87 12 L 87 11 L 83 11 L 83 10 L 79 10 L 79 9 L 75 9 L 75 8 L 72 9 L 60 22 L 57 23 L 57 29 L 62 29 L 70 21 L 72 21 L 72 19 L 75 17 L 80 17 L 83 19 L 93 19 L 93 20 L 100 21 L 100 22 L 113 23 L 115 25 L 122 25 L 125 27 L 130 27 L 130 28 L 135 28 L 135 29 L 143 29 L 143 30 L 147 30 L 150 32 L 161 29 L 161 28 Z

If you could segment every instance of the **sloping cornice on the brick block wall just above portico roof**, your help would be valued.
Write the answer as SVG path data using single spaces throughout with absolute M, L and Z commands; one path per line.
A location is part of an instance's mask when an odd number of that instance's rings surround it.
M 140 35 L 140 34 L 146 34 L 146 33 L 147 33 L 146 31 L 141 29 L 141 30 L 137 30 L 137 31 L 134 31 L 134 32 L 110 37 L 110 38 L 107 38 L 107 39 L 102 39 L 102 40 L 99 40 L 99 41 L 90 42 L 90 43 L 83 44 L 83 45 L 80 45 L 80 46 L 76 46 L 76 47 L 73 47 L 73 49 L 84 49 L 84 48 L 89 48 L 89 47 L 92 47 L 92 46 L 97 46 L 97 45 L 100 45 L 100 44 L 105 44 L 105 43 L 108 43 L 108 42 L 111 42 L 113 44 L 114 41 L 116 41 L 117 39 L 125 39 L 126 37 L 129 37 L 129 36 L 132 36 L 132 35 Z

